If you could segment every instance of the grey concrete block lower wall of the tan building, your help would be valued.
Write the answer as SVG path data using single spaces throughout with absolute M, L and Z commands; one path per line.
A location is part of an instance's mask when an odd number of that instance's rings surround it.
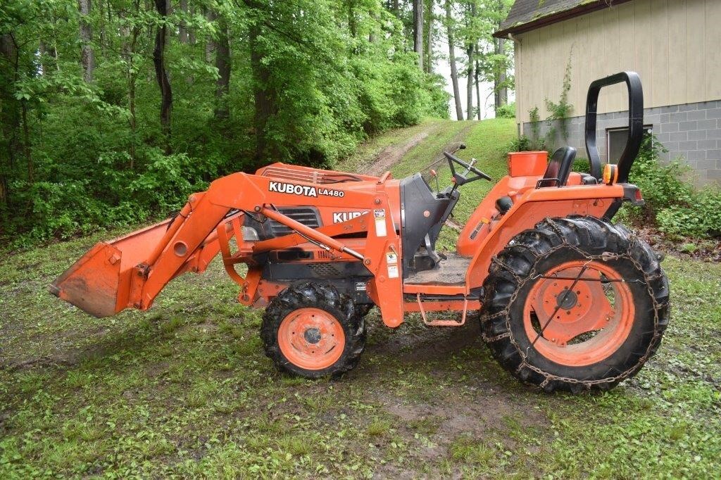
M 601 161 L 607 160 L 606 129 L 627 127 L 627 115 L 627 112 L 598 115 L 596 138 Z M 652 125 L 654 135 L 668 149 L 663 161 L 680 158 L 693 169 L 696 185 L 721 185 L 721 100 L 647 108 L 643 121 L 644 125 Z M 556 131 L 549 148 L 570 145 L 578 150 L 579 157 L 587 157 L 584 123 L 584 117 L 569 118 L 568 139 L 562 139 Z M 549 122 L 540 122 L 540 135 L 547 135 L 551 128 L 554 125 Z M 531 123 L 523 124 L 523 133 L 532 135 Z

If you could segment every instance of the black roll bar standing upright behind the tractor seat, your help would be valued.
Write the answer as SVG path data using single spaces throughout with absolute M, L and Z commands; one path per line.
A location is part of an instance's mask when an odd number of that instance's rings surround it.
M 604 86 L 626 83 L 629 92 L 629 138 L 619 159 L 618 182 L 627 182 L 643 141 L 643 87 L 641 79 L 634 71 L 622 71 L 593 81 L 588 87 L 586 97 L 585 144 L 590 162 L 590 173 L 601 179 L 601 156 L 596 146 L 596 117 L 598 115 L 598 94 Z

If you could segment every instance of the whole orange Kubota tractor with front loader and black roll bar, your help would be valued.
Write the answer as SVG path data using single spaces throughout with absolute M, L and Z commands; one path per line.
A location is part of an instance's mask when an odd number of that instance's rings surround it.
M 601 171 L 596 108 L 603 86 L 625 83 L 629 140 Z M 150 308 L 170 280 L 203 272 L 218 253 L 238 300 L 265 306 L 260 336 L 275 365 L 309 378 L 357 365 L 364 316 L 389 327 L 419 312 L 460 326 L 480 311 L 482 336 L 501 365 L 545 391 L 604 390 L 634 375 L 668 323 L 668 282 L 655 252 L 611 223 L 624 201 L 642 140 L 637 74 L 594 81 L 586 106 L 590 174 L 571 172 L 575 149 L 509 154 L 496 183 L 459 235 L 435 251 L 463 185 L 491 180 L 445 151 L 453 181 L 393 179 L 271 164 L 190 195 L 174 218 L 100 242 L 50 285 L 97 317 Z M 437 182 L 436 182 L 437 184 Z M 239 270 L 239 265 L 246 268 Z M 454 319 L 429 312 L 455 311 Z

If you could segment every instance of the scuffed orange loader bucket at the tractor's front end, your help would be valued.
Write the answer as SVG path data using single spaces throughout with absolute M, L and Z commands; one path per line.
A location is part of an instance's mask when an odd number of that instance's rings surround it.
M 123 311 L 130 302 L 133 267 L 148 259 L 169 222 L 95 244 L 48 290 L 99 319 Z

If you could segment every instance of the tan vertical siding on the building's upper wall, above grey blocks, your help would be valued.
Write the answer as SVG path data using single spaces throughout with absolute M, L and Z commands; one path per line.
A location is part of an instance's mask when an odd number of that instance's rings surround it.
M 646 107 L 721 99 L 721 1 L 633 0 L 518 35 L 523 83 L 518 116 L 557 102 L 572 50 L 572 115 L 583 115 L 588 84 L 620 70 L 637 71 Z M 600 112 L 627 108 L 623 86 L 604 89 Z

